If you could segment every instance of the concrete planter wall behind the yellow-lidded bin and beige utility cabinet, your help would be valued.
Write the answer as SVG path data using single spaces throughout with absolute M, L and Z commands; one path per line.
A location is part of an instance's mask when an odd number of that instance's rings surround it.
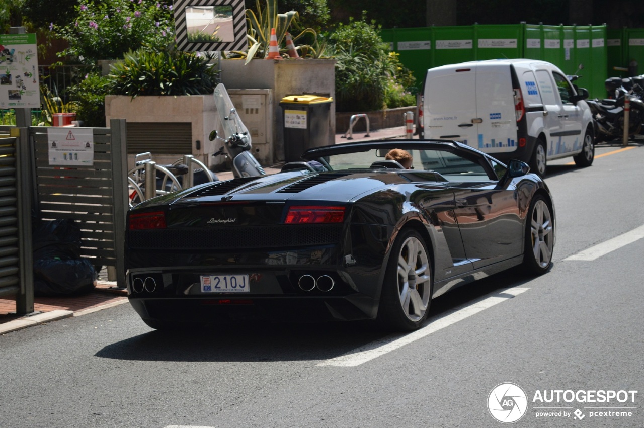
M 270 89 L 272 91 L 272 122 L 267 130 L 267 141 L 273 153 L 273 161 L 284 160 L 284 122 L 279 102 L 289 95 L 336 95 L 336 70 L 334 59 L 265 60 L 254 59 L 249 64 L 245 60 L 227 59 L 218 64 L 221 79 L 227 89 Z M 236 106 L 237 107 L 237 106 Z M 238 111 L 241 111 L 237 107 Z M 243 120 L 243 115 L 242 115 Z M 329 129 L 336 129 L 336 104 L 330 104 Z M 333 133 L 329 133 L 327 144 L 334 143 Z

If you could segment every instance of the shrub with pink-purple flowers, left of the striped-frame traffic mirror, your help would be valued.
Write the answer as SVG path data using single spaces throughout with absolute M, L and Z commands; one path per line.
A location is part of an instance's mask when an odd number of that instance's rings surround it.
M 70 46 L 59 57 L 82 63 L 122 59 L 124 53 L 146 46 L 164 50 L 175 42 L 171 0 L 81 0 L 75 20 L 52 29 Z

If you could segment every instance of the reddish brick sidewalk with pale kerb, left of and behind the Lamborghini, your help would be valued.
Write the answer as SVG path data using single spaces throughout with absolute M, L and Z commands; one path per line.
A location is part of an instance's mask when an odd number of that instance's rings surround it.
M 401 138 L 404 136 L 404 127 L 372 130 L 369 136 L 365 136 L 364 131 L 354 133 L 352 139 L 346 138 L 348 135 L 343 136 L 342 133 L 336 134 L 336 144 Z M 280 168 L 281 164 L 264 166 L 267 174 L 279 172 Z M 232 178 L 232 172 L 217 172 L 217 176 L 220 180 L 229 180 Z M 91 293 L 70 297 L 36 297 L 33 305 L 34 313 L 27 316 L 15 314 L 15 299 L 0 299 L 0 335 L 50 321 L 78 317 L 128 302 L 126 290 L 117 289 L 115 282 L 106 281 L 105 272 L 101 272 L 100 276 L 95 290 Z

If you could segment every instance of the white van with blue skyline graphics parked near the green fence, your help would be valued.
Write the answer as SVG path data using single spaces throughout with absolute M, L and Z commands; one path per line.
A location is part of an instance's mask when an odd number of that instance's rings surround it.
M 591 111 L 553 64 L 499 59 L 450 64 L 427 71 L 423 87 L 424 138 L 457 140 L 502 162 L 514 158 L 545 175 L 547 161 L 594 159 Z

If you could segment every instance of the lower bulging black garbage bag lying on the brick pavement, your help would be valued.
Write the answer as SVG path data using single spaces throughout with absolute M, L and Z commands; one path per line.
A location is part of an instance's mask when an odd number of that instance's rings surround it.
M 33 262 L 33 293 L 39 296 L 91 292 L 98 274 L 88 259 L 39 259 Z

